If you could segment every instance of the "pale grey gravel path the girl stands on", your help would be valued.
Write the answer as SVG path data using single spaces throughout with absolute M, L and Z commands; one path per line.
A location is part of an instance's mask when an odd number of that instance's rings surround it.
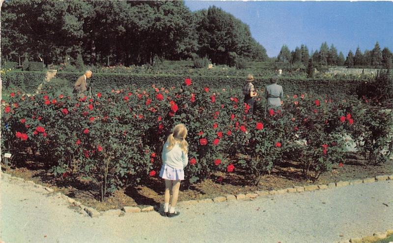
M 393 181 L 183 206 L 175 218 L 154 211 L 90 218 L 54 194 L 0 182 L 5 243 L 332 243 L 393 228 Z

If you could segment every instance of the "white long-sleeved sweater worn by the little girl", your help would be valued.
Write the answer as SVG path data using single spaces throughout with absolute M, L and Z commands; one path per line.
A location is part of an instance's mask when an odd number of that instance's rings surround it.
M 176 169 L 184 169 L 188 164 L 188 154 L 181 150 L 179 143 L 176 143 L 171 150 L 167 147 L 168 143 L 165 143 L 161 154 L 163 163 Z

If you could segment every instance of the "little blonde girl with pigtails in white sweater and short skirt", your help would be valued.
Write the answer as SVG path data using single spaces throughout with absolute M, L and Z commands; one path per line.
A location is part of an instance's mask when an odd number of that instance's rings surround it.
M 173 128 L 173 133 L 168 136 L 164 144 L 162 159 L 163 165 L 160 177 L 165 179 L 165 196 L 163 216 L 174 217 L 179 215 L 175 211 L 177 198 L 179 196 L 180 181 L 184 180 L 184 168 L 188 164 L 188 143 L 186 141 L 187 128 L 184 124 L 177 124 Z M 169 207 L 169 197 L 172 194 L 172 201 Z

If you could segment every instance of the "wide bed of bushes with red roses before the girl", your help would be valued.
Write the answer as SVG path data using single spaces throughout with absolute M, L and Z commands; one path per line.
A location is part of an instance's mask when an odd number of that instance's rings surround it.
M 33 161 L 41 155 L 55 176 L 90 178 L 101 200 L 157 176 L 162 145 L 178 122 L 189 129 L 189 183 L 241 167 L 257 184 L 283 159 L 299 161 L 304 177 L 317 179 L 332 163 L 344 163 L 345 134 L 372 164 L 393 152 L 391 113 L 357 99 L 297 93 L 266 118 L 260 110 L 251 117 L 234 91 L 190 83 L 102 91 L 86 100 L 51 89 L 30 97 L 11 93 L 2 106 L 2 151 L 14 158 L 29 151 Z M 237 159 L 239 153 L 249 156 Z

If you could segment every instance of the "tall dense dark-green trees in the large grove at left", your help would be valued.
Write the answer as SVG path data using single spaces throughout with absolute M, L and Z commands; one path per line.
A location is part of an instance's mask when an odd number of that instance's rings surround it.
M 215 6 L 192 12 L 184 1 L 7 0 L 1 56 L 45 63 L 153 64 L 157 59 L 265 61 L 250 28 Z

